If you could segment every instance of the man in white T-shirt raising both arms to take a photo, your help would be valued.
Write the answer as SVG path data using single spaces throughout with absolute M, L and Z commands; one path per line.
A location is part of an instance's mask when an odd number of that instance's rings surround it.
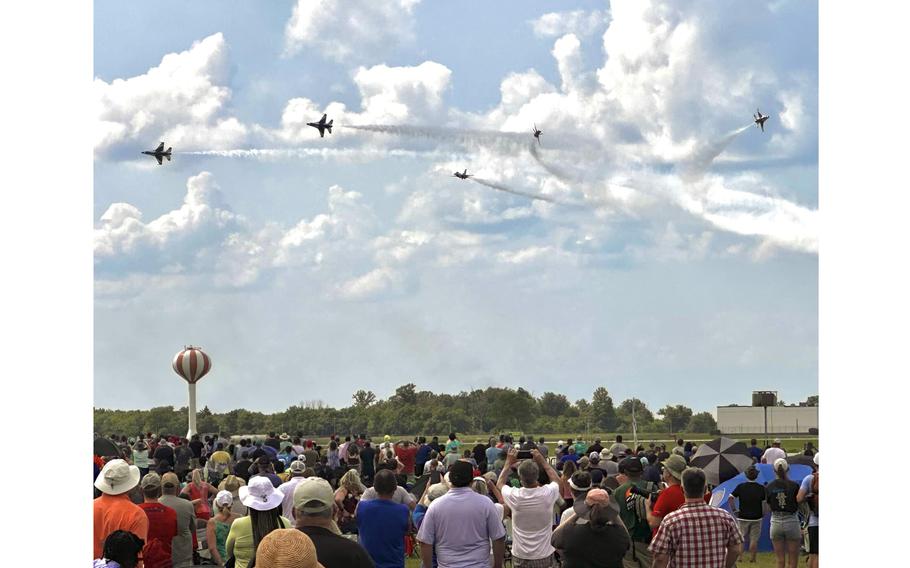
M 550 544 L 550 537 L 553 533 L 553 507 L 559 499 L 562 484 L 540 452 L 532 450 L 531 456 L 532 459 L 522 460 L 518 466 L 521 487 L 506 485 L 509 472 L 518 461 L 515 449 L 509 452 L 506 466 L 496 483 L 512 515 L 512 558 L 516 568 L 541 568 L 555 564 L 555 549 Z M 541 470 L 550 480 L 546 485 L 539 483 Z

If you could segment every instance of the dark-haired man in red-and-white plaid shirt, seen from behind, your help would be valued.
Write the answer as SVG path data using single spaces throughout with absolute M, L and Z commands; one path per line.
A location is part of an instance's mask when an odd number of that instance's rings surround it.
M 651 541 L 654 568 L 732 568 L 742 553 L 743 537 L 733 515 L 706 505 L 705 472 L 683 471 L 686 502 L 663 518 Z

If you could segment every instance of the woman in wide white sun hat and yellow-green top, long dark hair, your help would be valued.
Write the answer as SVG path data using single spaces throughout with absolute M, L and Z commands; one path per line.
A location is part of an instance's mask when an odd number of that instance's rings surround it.
M 241 487 L 239 494 L 250 513 L 231 524 L 225 552 L 228 557 L 234 557 L 236 568 L 247 568 L 265 535 L 276 529 L 291 528 L 294 524 L 281 516 L 284 493 L 276 489 L 268 477 L 251 477 L 249 485 Z

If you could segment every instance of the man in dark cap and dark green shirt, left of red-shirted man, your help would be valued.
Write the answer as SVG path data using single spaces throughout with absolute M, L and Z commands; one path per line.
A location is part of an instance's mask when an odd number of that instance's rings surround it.
M 640 459 L 633 457 L 623 459 L 619 464 L 619 475 L 616 479 L 623 481 L 613 490 L 611 498 L 619 508 L 619 517 L 632 539 L 632 546 L 626 552 L 626 565 L 650 568 L 651 553 L 648 550 L 648 543 L 651 542 L 651 526 L 648 524 L 648 499 L 633 493 L 632 487 L 635 486 L 639 491 L 650 494 L 657 490 L 657 486 L 644 481 L 641 478 L 643 473 L 644 468 Z M 606 481 L 604 483 L 606 484 Z

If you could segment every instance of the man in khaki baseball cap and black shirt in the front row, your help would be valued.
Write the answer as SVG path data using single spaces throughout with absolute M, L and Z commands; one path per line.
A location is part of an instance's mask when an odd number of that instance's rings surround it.
M 319 563 L 325 568 L 373 568 L 362 546 L 338 534 L 336 510 L 332 486 L 325 479 L 307 478 L 294 489 L 295 526 L 313 541 Z

